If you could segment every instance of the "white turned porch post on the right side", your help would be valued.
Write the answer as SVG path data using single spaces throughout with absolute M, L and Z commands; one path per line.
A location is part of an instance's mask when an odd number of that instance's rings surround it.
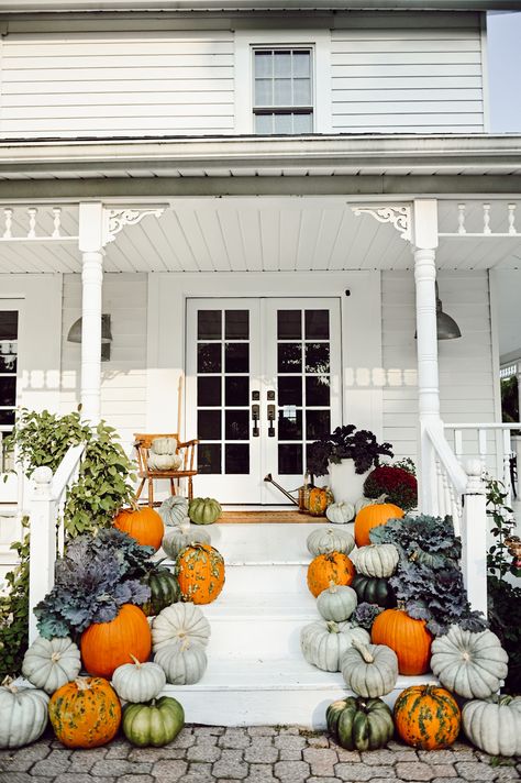
M 437 202 L 414 201 L 414 283 L 417 290 L 418 394 L 420 416 L 420 510 L 436 515 L 436 465 L 425 427 L 442 427 L 437 373 L 436 247 Z

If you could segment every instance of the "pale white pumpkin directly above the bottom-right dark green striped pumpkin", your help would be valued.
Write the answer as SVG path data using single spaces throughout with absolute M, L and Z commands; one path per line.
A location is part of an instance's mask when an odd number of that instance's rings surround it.
M 345 683 L 357 696 L 377 698 L 390 693 L 398 680 L 398 657 L 386 644 L 353 641 L 341 661 Z

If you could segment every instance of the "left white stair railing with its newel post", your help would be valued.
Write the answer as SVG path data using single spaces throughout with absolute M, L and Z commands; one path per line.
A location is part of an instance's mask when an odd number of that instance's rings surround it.
M 77 478 L 85 444 L 73 445 L 56 473 L 37 467 L 30 504 L 30 571 L 29 571 L 29 643 L 37 636 L 34 607 L 54 586 L 56 553 L 63 554 L 65 543 L 64 506 L 68 486 Z

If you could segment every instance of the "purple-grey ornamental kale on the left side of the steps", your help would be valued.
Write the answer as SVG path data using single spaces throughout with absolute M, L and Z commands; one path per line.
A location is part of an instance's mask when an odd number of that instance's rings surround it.
M 78 536 L 56 563 L 53 589 L 34 610 L 40 633 L 74 637 L 92 622 L 113 620 L 123 604 L 144 604 L 151 591 L 140 578 L 153 551 L 119 530 Z

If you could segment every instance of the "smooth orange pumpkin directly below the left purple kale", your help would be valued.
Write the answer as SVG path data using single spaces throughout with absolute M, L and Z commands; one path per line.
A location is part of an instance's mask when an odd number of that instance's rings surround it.
M 110 622 L 93 622 L 81 633 L 81 658 L 90 674 L 111 677 L 132 657 L 148 660 L 152 635 L 144 613 L 133 604 L 123 604 Z

